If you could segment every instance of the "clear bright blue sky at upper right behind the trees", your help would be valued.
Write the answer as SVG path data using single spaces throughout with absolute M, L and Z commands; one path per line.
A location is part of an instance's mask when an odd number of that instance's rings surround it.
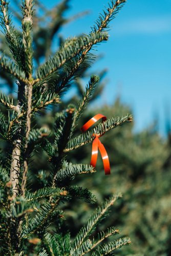
M 49 7 L 58 2 L 53 0 Z M 90 10 L 90 14 L 66 25 L 61 34 L 68 37 L 89 33 L 107 4 L 106 0 L 71 0 L 67 16 L 84 10 Z M 122 102 L 132 107 L 135 131 L 144 129 L 158 117 L 163 134 L 166 112 L 171 111 L 170 14 L 171 1 L 128 0 L 111 22 L 109 41 L 97 48 L 104 57 L 91 71 L 107 68 L 109 79 L 97 104 L 112 104 L 120 94 Z

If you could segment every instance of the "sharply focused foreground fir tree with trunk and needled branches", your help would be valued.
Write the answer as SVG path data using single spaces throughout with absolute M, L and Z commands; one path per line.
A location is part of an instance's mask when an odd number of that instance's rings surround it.
M 119 233 L 115 227 L 99 232 L 97 238 L 93 237 L 97 225 L 108 215 L 120 195 L 112 195 L 98 206 L 73 241 L 70 231 L 64 228 L 65 210 L 62 210 L 61 202 L 72 202 L 73 198 L 79 198 L 87 203 L 96 203 L 96 197 L 89 189 L 70 185 L 69 182 L 76 175 L 95 173 L 95 168 L 89 164 L 73 164 L 66 157 L 70 151 L 93 140 L 92 132 L 75 136 L 74 131 L 86 104 L 93 97 L 99 77 L 91 76 L 78 105 L 69 104 L 56 112 L 51 129 L 32 124 L 36 115 L 48 105 L 61 104 L 62 93 L 90 60 L 92 47 L 108 40 L 105 30 L 124 3 L 125 0 L 111 1 L 88 35 L 63 41 L 58 51 L 48 59 L 48 50 L 46 53 L 42 51 L 46 60 L 40 65 L 33 51 L 33 46 L 37 51 L 40 47 L 38 35 L 33 37 L 36 5 L 34 7 L 32 0 L 22 1 L 22 16 L 17 15 L 22 19 L 22 31 L 18 31 L 9 14 L 10 3 L 1 1 L 1 26 L 9 48 L 7 54 L 2 52 L 0 55 L 1 73 L 9 73 L 9 81 L 17 79 L 18 87 L 17 100 L 0 93 L 1 255 L 109 255 L 115 249 L 130 244 L 129 238 L 108 243 L 108 237 Z M 67 5 L 67 0 L 58 5 L 57 17 Z M 59 23 L 63 22 L 61 17 L 54 19 L 54 26 L 48 29 L 51 33 L 47 42 L 50 43 Z M 101 135 L 130 121 L 131 115 L 113 117 L 96 125 L 93 132 Z M 39 159 L 46 155 L 49 169 L 38 171 L 37 179 L 41 180 L 41 186 L 33 189 L 32 182 L 36 179 L 32 175 L 36 167 L 32 164 L 34 151 L 38 152 Z

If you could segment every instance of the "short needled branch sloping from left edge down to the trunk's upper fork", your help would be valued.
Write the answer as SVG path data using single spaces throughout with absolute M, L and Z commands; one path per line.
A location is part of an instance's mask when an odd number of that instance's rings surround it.
M 12 61 L 12 59 L 6 57 L 3 53 L 0 56 L 0 67 L 2 70 L 8 72 L 13 75 L 16 79 L 20 81 L 25 81 L 25 73 L 22 69 L 18 68 L 18 66 Z

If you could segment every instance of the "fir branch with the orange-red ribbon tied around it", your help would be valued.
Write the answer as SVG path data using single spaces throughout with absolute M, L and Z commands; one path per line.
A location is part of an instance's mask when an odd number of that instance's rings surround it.
M 93 141 L 94 137 L 93 134 L 102 135 L 105 132 L 108 132 L 114 128 L 116 128 L 119 125 L 122 125 L 125 122 L 132 122 L 133 118 L 132 115 L 127 114 L 127 116 L 124 117 L 113 117 L 111 119 L 106 120 L 103 123 L 97 124 L 92 131 L 88 131 L 86 133 L 83 133 L 81 135 L 78 135 L 74 139 L 70 140 L 64 150 L 64 152 L 69 152 L 71 150 L 74 150 L 75 148 L 78 148 L 80 146 L 83 146 L 91 141 Z

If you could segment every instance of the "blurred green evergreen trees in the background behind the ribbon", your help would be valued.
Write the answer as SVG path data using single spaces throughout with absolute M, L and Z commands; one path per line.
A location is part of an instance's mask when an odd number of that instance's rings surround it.
M 118 98 L 112 106 L 104 105 L 88 110 L 84 113 L 83 119 L 86 120 L 97 112 L 110 116 L 112 113 L 122 115 L 132 111 Z M 98 161 L 96 166 L 98 173 L 94 174 L 95 179 L 89 176 L 84 179 L 77 176 L 75 179 L 77 185 L 93 188 L 99 202 L 110 193 L 121 191 L 123 194 L 123 198 L 115 206 L 112 218 L 106 219 L 100 228 L 119 225 L 123 234 L 129 234 L 134 243 L 126 247 L 126 250 L 121 250 L 120 255 L 170 255 L 169 133 L 167 138 L 162 138 L 155 124 L 135 133 L 133 125 L 129 125 L 118 127 L 112 136 L 108 133 L 103 138 L 111 161 L 111 178 L 107 179 L 108 177 L 103 176 L 102 161 Z M 78 155 L 73 151 L 69 157 L 73 162 L 86 163 L 89 161 L 89 150 L 89 145 L 82 147 L 81 154 Z M 84 223 L 85 209 L 93 212 L 94 205 L 73 204 L 66 209 L 67 223 L 71 230 L 74 221 L 77 218 L 81 220 L 77 226 L 74 226 L 72 236 Z M 77 212 L 77 215 L 74 212 Z M 97 229 L 96 232 L 98 231 Z

